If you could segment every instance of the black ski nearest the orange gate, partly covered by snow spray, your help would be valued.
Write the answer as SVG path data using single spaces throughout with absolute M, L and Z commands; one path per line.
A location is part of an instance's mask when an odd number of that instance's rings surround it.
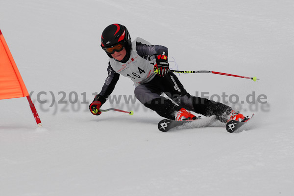
M 158 123 L 158 129 L 162 132 L 167 132 L 171 129 L 190 129 L 200 127 L 223 127 L 223 123 L 217 120 L 216 116 L 203 117 L 196 120 L 176 121 L 163 119 Z

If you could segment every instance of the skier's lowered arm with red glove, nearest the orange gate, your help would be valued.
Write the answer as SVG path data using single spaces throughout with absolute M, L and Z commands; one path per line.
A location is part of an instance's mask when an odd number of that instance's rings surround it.
M 106 78 L 104 85 L 102 86 L 101 92 L 95 96 L 93 102 L 90 104 L 89 109 L 92 114 L 99 115 L 101 114 L 100 107 L 102 104 L 105 103 L 106 98 L 112 93 L 114 90 L 115 85 L 117 84 L 120 74 L 116 73 L 112 67 L 110 66 L 110 63 L 107 68 L 108 71 L 108 77 Z

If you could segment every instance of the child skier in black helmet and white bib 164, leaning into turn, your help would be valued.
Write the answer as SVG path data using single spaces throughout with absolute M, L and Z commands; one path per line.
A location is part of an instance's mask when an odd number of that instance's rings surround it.
M 164 118 L 195 120 L 196 116 L 188 112 L 193 111 L 204 116 L 216 115 L 221 122 L 247 119 L 222 103 L 190 95 L 170 72 L 168 49 L 151 45 L 139 37 L 131 42 L 129 32 L 123 25 L 112 24 L 106 27 L 102 32 L 101 47 L 110 59 L 108 77 L 101 92 L 89 106 L 94 115 L 101 114 L 100 107 L 114 90 L 120 75 L 123 75 L 134 82 L 136 98 Z M 163 92 L 170 99 L 161 96 Z

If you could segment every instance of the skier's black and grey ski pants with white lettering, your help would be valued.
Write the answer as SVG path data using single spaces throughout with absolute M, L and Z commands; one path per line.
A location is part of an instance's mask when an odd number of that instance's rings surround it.
M 170 99 L 161 96 L 162 93 Z M 135 96 L 147 108 L 172 120 L 181 108 L 204 116 L 216 115 L 221 122 L 226 122 L 232 111 L 220 102 L 190 95 L 172 72 L 164 77 L 156 75 L 150 82 L 140 84 L 135 88 Z

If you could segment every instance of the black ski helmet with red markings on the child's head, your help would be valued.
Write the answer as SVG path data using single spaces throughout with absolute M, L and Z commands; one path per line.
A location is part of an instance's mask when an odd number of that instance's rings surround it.
M 132 43 L 128 30 L 120 24 L 109 25 L 102 32 L 101 47 L 104 50 L 104 48 L 114 46 L 118 43 L 123 43 L 127 54 L 130 54 Z M 106 54 L 112 58 L 110 54 Z

